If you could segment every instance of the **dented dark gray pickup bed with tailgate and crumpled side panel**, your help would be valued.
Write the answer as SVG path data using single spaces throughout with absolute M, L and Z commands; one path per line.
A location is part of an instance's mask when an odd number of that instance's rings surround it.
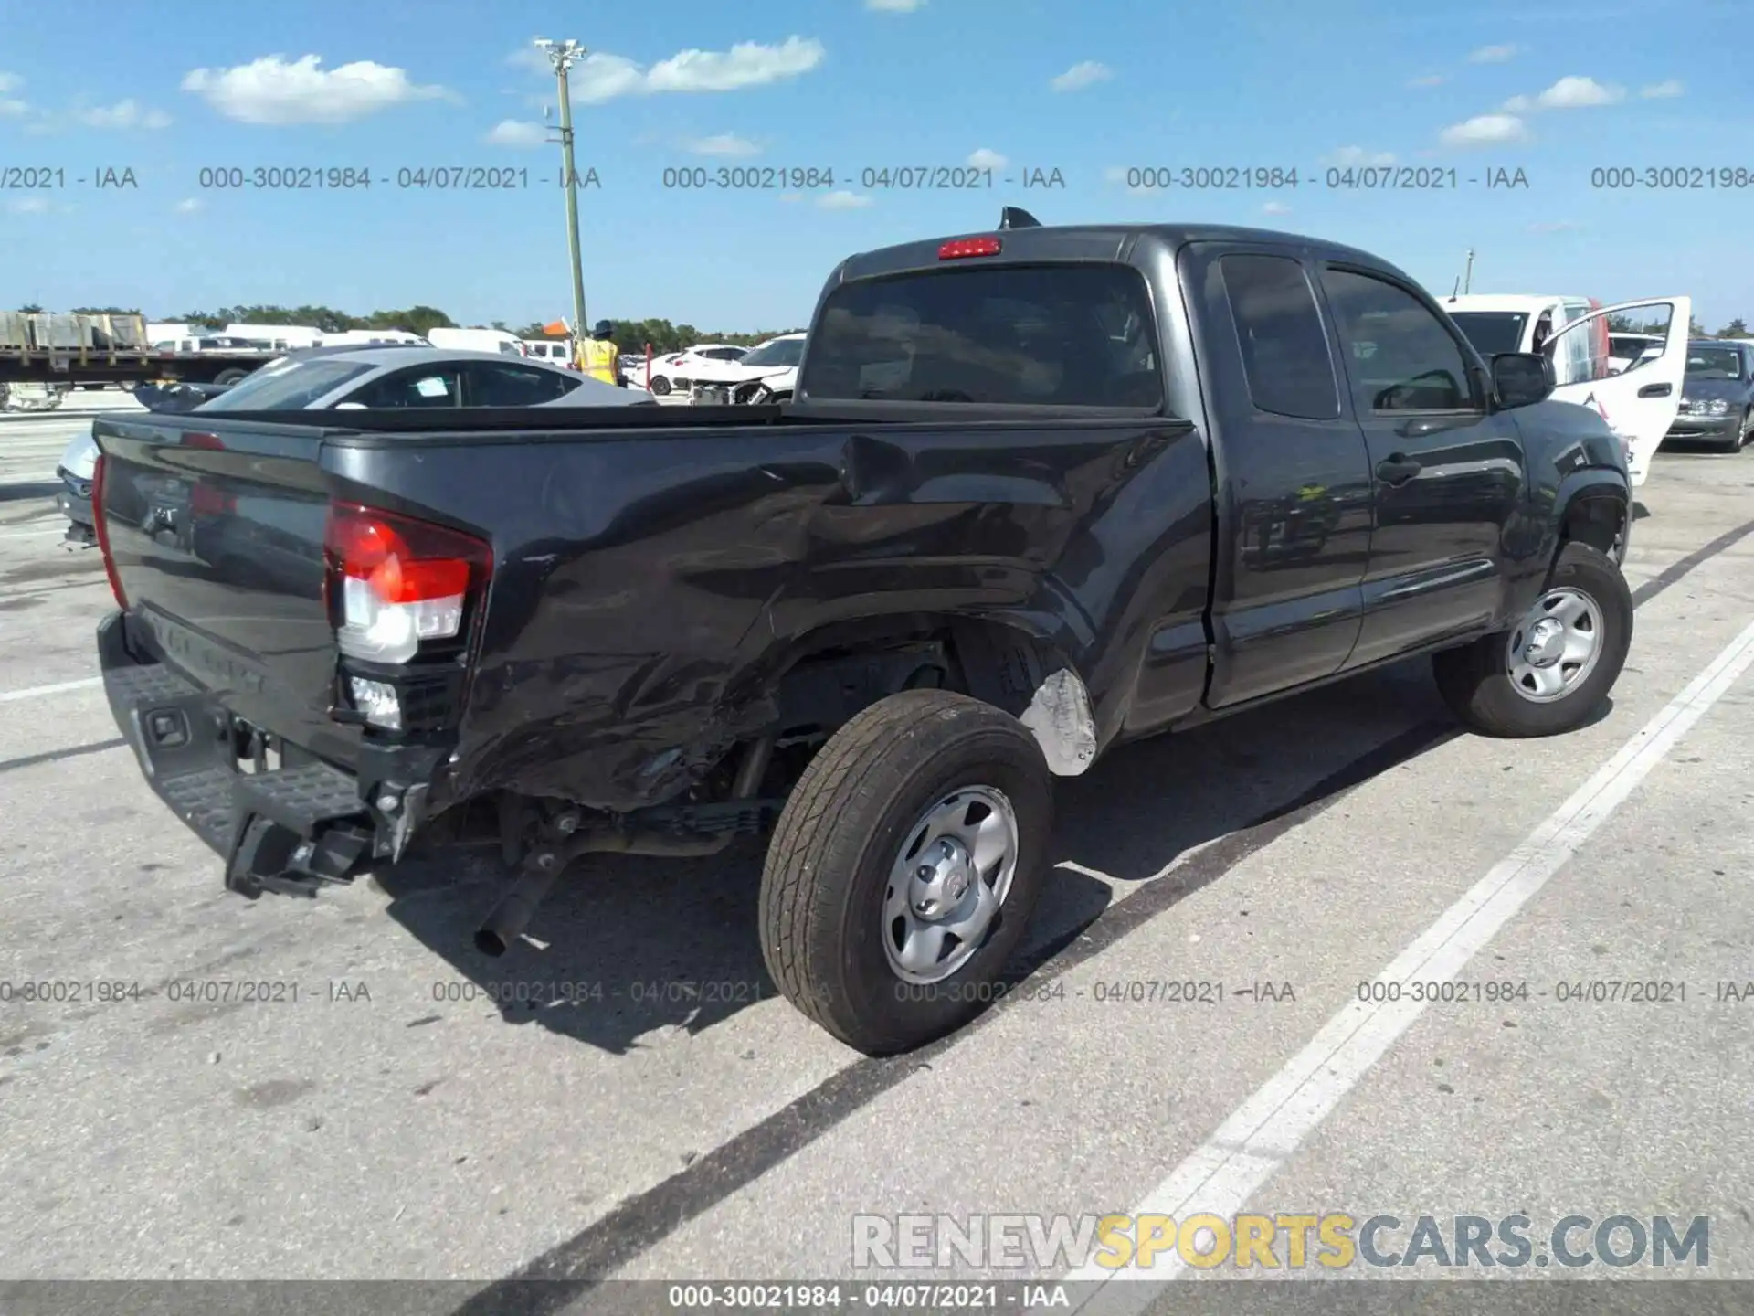
M 1200 642 L 1198 670 L 1156 656 L 1175 674 L 1145 683 L 1165 709 L 1198 702 L 1205 676 L 1203 591 L 1172 616 L 1117 605 L 1145 558 L 1207 577 L 1210 481 L 1184 421 L 942 404 L 568 411 L 540 428 L 528 411 L 193 412 L 103 418 L 95 435 L 125 600 L 105 665 L 179 683 L 237 744 L 261 733 L 363 800 L 421 776 L 431 811 L 496 790 L 661 804 L 772 716 L 765 679 L 791 647 L 844 619 L 1010 616 L 1073 662 L 1103 653 L 1091 693 L 1110 732 L 1126 709 L 1102 700 L 1133 688 L 1152 632 Z M 458 644 L 388 674 L 340 653 L 326 533 L 356 504 L 488 546 Z M 400 683 L 402 730 L 361 726 L 344 679 L 361 674 Z

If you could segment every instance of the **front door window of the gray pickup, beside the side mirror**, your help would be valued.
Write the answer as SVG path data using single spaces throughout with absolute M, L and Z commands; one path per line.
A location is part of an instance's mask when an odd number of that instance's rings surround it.
M 1359 419 L 1372 412 L 1479 411 L 1466 358 L 1442 321 L 1387 279 L 1323 270 Z

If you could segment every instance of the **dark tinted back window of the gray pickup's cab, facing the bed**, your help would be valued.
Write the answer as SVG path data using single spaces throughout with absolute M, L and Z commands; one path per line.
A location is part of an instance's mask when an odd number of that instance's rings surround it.
M 1126 265 L 993 265 L 833 290 L 803 397 L 1163 407 L 1156 325 Z

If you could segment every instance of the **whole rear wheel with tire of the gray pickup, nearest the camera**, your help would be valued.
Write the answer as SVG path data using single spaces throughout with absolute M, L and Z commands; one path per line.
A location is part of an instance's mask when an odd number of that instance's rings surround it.
M 944 690 L 879 700 L 810 760 L 761 872 L 761 956 L 866 1055 L 954 1032 L 1002 995 L 1035 905 L 1052 779 L 1030 732 Z

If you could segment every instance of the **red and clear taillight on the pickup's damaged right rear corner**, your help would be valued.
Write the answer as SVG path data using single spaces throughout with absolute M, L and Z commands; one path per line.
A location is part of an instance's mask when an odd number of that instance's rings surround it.
M 421 640 L 461 635 L 470 597 L 493 572 L 474 535 L 360 504 L 332 504 L 323 535 L 340 649 L 405 663 Z

